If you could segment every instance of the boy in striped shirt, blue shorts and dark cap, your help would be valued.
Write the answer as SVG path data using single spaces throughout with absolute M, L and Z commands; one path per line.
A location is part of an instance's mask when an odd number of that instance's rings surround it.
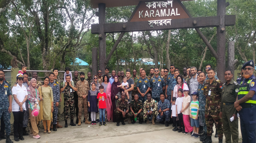
M 191 121 L 191 126 L 194 129 L 194 134 L 191 135 L 191 137 L 198 138 L 199 137 L 199 120 L 198 120 L 198 114 L 199 114 L 199 102 L 197 101 L 198 98 L 198 93 L 193 92 L 192 93 L 192 99 L 190 103 L 190 108 L 189 108 L 189 115 L 190 115 L 190 121 Z

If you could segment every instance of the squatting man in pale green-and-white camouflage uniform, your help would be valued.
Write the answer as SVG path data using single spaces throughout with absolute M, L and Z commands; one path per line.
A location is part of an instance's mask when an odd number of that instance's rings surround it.
M 148 116 L 153 115 L 152 124 L 153 125 L 155 124 L 155 118 L 157 115 L 157 102 L 156 102 L 156 100 L 152 99 L 152 96 L 150 93 L 147 94 L 147 100 L 144 102 L 143 114 L 144 114 L 143 118 L 145 120 L 147 120 L 147 122 L 146 122 L 147 124 L 149 123 Z

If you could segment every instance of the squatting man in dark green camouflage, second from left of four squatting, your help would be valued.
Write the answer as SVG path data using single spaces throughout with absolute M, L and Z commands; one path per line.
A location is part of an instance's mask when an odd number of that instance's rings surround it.
M 139 100 L 138 94 L 134 95 L 134 100 L 130 103 L 130 120 L 128 124 L 132 123 L 134 124 L 136 121 L 134 120 L 135 117 L 139 117 L 139 124 L 142 124 L 143 122 L 143 103 L 141 100 Z

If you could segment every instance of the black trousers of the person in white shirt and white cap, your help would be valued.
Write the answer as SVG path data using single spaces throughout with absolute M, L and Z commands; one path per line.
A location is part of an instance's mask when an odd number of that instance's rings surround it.
M 14 122 L 13 122 L 14 137 L 22 136 L 22 134 L 23 134 L 22 127 L 23 127 L 24 111 L 23 112 L 14 111 L 12 113 L 13 113 L 13 118 L 14 118 Z

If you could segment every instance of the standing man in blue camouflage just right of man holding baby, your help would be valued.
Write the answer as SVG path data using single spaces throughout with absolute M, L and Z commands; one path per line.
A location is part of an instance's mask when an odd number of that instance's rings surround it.
M 150 90 L 150 80 L 146 77 L 146 71 L 141 70 L 141 78 L 137 82 L 137 91 L 139 95 L 139 100 L 142 101 L 142 104 L 147 100 L 147 93 Z

